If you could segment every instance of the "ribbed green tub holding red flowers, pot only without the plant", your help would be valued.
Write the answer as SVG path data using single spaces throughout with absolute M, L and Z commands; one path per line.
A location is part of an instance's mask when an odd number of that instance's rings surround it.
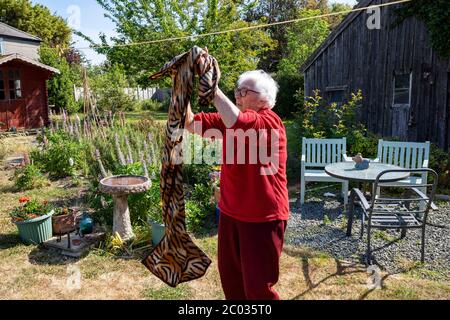
M 53 210 L 45 216 L 14 222 L 25 244 L 40 244 L 52 237 Z

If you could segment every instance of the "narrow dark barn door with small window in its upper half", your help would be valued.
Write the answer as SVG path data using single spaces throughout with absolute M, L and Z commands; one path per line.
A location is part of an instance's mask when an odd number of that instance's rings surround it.
M 392 136 L 408 140 L 411 109 L 411 73 L 396 74 L 392 104 Z

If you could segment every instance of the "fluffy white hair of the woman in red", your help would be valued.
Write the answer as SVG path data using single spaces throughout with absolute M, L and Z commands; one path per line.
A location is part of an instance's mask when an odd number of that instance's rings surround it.
M 267 99 L 269 107 L 272 109 L 277 102 L 277 94 L 279 90 L 278 83 L 263 70 L 247 71 L 241 74 L 237 85 L 240 87 L 243 82 L 251 80 L 255 84 L 255 91 Z

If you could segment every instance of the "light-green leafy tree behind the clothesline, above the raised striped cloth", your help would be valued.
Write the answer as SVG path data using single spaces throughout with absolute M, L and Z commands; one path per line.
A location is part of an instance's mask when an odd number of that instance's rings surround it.
M 242 20 L 244 2 L 232 0 L 97 0 L 116 25 L 118 37 L 112 45 L 123 45 L 181 36 L 187 40 L 164 41 L 138 46 L 97 48 L 111 64 L 120 64 L 127 76 L 143 87 L 155 85 L 148 76 L 158 71 L 174 56 L 194 45 L 207 46 L 219 61 L 222 70 L 221 87 L 230 92 L 240 73 L 255 69 L 259 56 L 274 47 L 270 36 L 260 29 L 195 38 L 196 35 L 253 25 Z M 79 33 L 93 45 L 95 43 Z M 104 34 L 101 45 L 108 46 Z

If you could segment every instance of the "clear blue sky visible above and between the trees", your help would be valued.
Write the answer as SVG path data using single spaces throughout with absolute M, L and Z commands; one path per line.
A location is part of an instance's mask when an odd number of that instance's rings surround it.
M 48 7 L 53 13 L 68 20 L 69 24 L 76 26 L 76 29 L 98 41 L 98 35 L 103 32 L 114 36 L 114 24 L 104 17 L 104 11 L 95 0 L 32 0 L 33 3 L 40 3 Z M 356 0 L 331 0 L 330 3 L 339 2 L 355 5 Z M 79 13 L 79 14 L 78 14 Z M 77 18 L 79 17 L 79 18 Z M 88 43 L 83 39 L 74 36 L 75 47 L 88 47 Z M 105 60 L 102 55 L 96 54 L 93 50 L 82 50 L 86 57 L 94 64 Z

